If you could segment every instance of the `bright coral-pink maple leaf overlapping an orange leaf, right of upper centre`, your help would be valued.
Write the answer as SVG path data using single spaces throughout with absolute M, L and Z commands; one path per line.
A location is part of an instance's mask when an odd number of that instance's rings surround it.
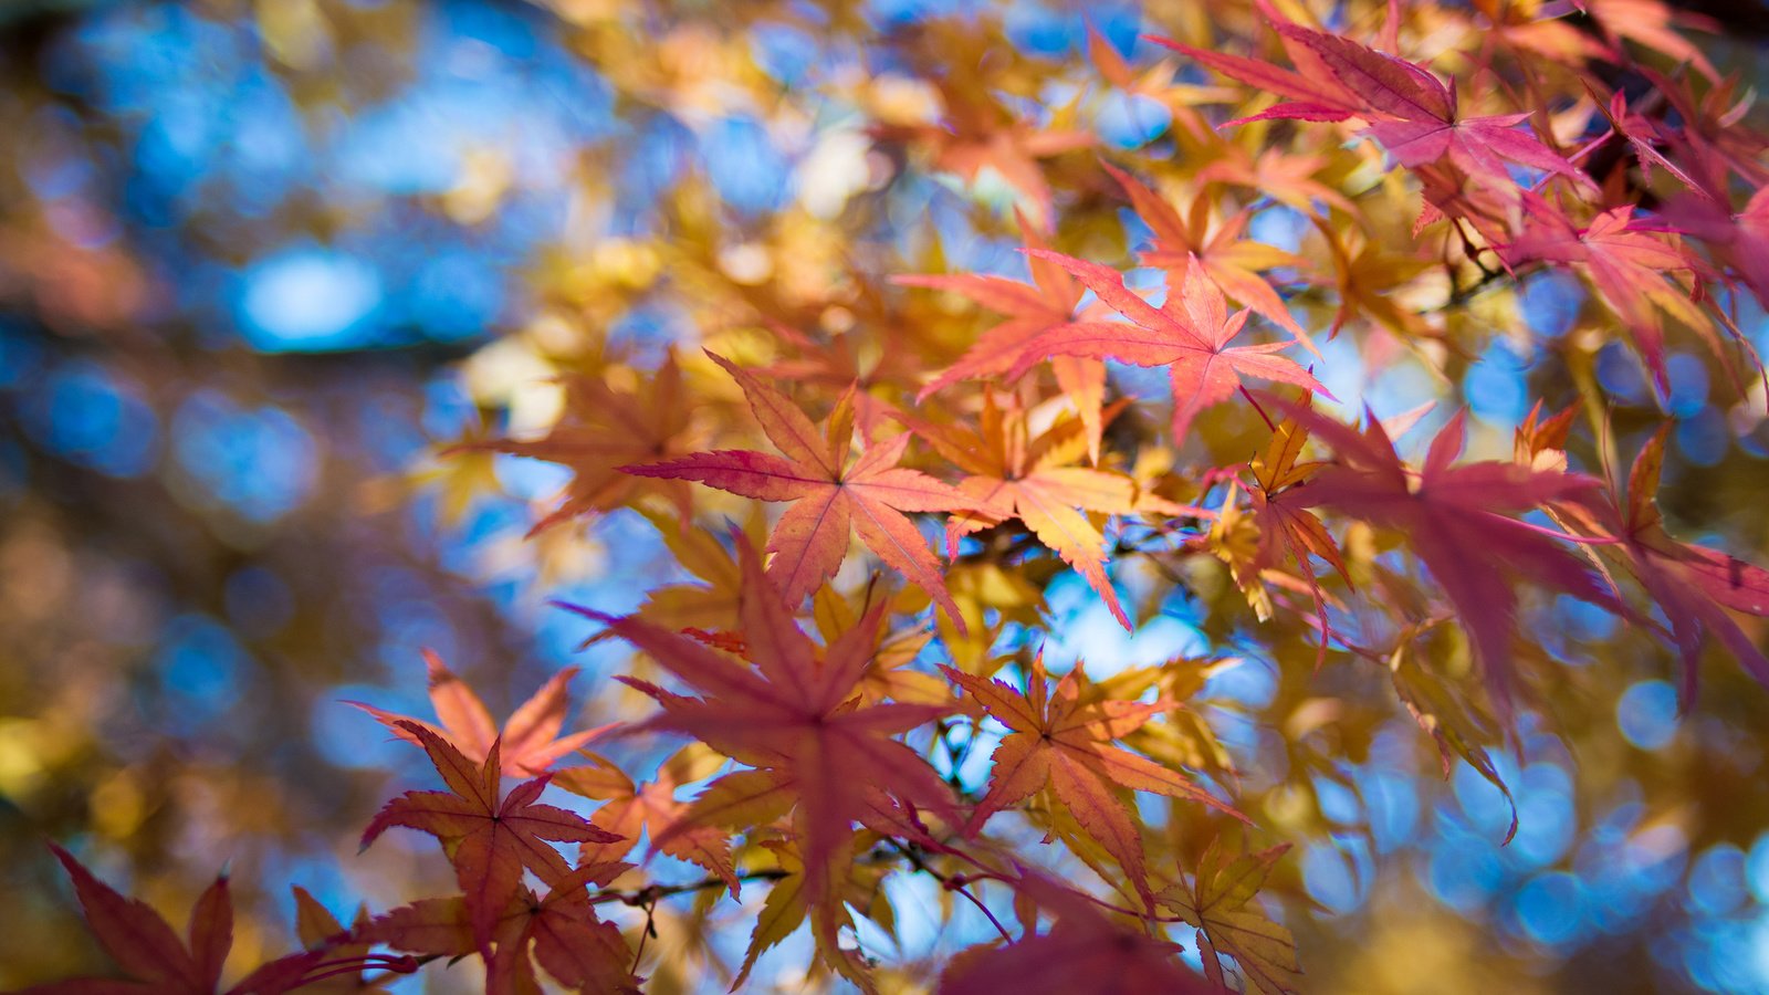
M 1185 283 L 1160 308 L 1150 305 L 1123 285 L 1116 269 L 1053 251 L 1033 250 L 1033 255 L 1051 258 L 1074 273 L 1100 301 L 1132 326 L 1116 322 L 1074 322 L 1040 335 L 1026 347 L 1021 366 L 1045 356 L 1090 356 L 1120 359 L 1137 366 L 1168 366 L 1173 381 L 1173 437 L 1178 444 L 1199 411 L 1222 404 L 1242 388 L 1242 377 L 1279 381 L 1327 393 L 1307 370 L 1283 356 L 1272 356 L 1288 343 L 1265 345 L 1228 343 L 1247 324 L 1247 312 L 1233 317 L 1222 299 L 1222 290 L 1192 260 L 1185 269 Z

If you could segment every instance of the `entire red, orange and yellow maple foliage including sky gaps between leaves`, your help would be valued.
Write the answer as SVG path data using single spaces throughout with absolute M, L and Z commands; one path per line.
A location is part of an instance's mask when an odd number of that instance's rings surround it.
M 814 131 L 690 12 L 554 7 L 633 115 Z M 348 926 L 295 889 L 301 949 L 248 967 L 226 876 L 180 938 L 51 845 L 120 977 L 34 991 L 1355 988 L 1291 853 L 1380 850 L 1373 756 L 1489 783 L 1505 846 L 1544 744 L 1620 735 L 1606 680 L 1769 698 L 1769 570 L 1721 551 L 1758 526 L 1661 508 L 1686 430 L 1769 411 L 1769 131 L 1704 21 L 1228 2 L 1081 60 L 803 7 L 877 53 L 819 83 L 851 189 L 658 181 L 414 474 L 444 524 L 527 512 L 502 552 L 589 653 L 502 724 L 432 650 L 433 719 L 348 701 L 444 788 L 357 813 L 357 866 L 435 873 Z M 1504 349 L 1528 414 L 1475 388 Z

